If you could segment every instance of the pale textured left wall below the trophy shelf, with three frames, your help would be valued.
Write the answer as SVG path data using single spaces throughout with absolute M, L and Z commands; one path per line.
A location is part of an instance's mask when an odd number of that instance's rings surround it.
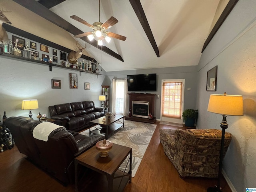
M 1 84 L 0 84 L 0 119 L 4 111 L 10 116 L 28 116 L 28 110 L 21 110 L 23 99 L 37 99 L 38 109 L 32 110 L 36 114 L 48 113 L 48 106 L 69 102 L 93 100 L 100 106 L 98 100 L 104 75 L 81 73 L 74 70 L 52 68 L 47 65 L 35 64 L 21 60 L 3 58 L 0 56 Z M 78 89 L 69 88 L 69 73 L 78 74 Z M 61 89 L 52 89 L 51 79 L 61 80 Z M 84 89 L 84 82 L 90 83 L 90 90 Z

